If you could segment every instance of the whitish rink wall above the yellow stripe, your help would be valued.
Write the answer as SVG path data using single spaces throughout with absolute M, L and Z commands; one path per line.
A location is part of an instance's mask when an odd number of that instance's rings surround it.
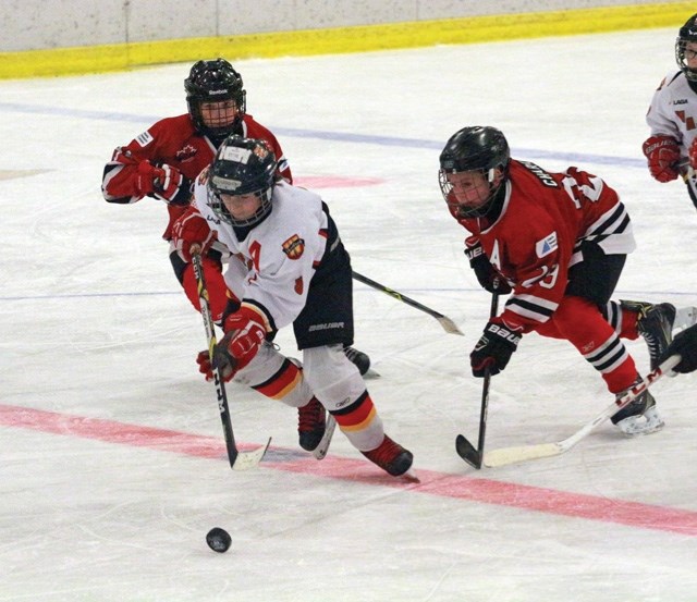
M 2 0 L 0 52 L 291 32 L 651 0 Z M 667 2 L 670 3 L 670 2 Z

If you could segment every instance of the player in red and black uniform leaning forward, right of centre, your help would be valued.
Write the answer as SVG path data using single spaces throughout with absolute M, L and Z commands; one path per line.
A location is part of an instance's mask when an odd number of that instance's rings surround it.
M 466 253 L 477 279 L 511 293 L 470 354 L 475 377 L 503 370 L 533 331 L 568 341 L 615 395 L 639 378 L 621 337 L 643 335 L 658 366 L 675 308 L 610 300 L 635 242 L 629 216 L 600 177 L 513 160 L 499 130 L 474 126 L 445 144 L 439 181 L 450 213 L 472 233 Z M 663 427 L 648 391 L 612 421 L 629 435 Z

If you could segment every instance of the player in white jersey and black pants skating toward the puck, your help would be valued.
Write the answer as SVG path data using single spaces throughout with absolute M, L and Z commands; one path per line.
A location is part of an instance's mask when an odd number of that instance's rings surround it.
M 248 269 L 242 290 L 234 287 L 239 278 L 225 274 L 241 300 L 224 316 L 213 361 L 225 380 L 234 377 L 268 397 L 314 408 L 314 423 L 301 420 L 298 428 L 303 447 L 318 445 L 326 408 L 364 456 L 390 475 L 404 475 L 413 455 L 384 434 L 365 382 L 343 352 L 353 343 L 348 254 L 322 199 L 278 180 L 276 169 L 264 140 L 230 136 L 196 182 L 189 222 L 206 220 L 218 241 L 244 259 L 231 261 L 228 271 Z M 193 244 L 210 244 L 196 233 L 175 229 L 182 253 L 191 256 Z M 303 352 L 302 368 L 268 342 L 289 324 Z M 201 371 L 209 371 L 207 354 L 199 358 Z

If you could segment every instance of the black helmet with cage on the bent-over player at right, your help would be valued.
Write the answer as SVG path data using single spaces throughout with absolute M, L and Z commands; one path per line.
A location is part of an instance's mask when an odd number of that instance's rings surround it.
M 453 217 L 458 219 L 486 216 L 499 188 L 506 180 L 510 161 L 509 143 L 503 133 L 496 127 L 475 125 L 455 132 L 440 153 L 438 174 L 441 193 Z M 497 169 L 502 171 L 503 177 L 494 182 Z M 479 207 L 466 208 L 453 198 L 453 187 L 448 181 L 448 174 L 465 171 L 479 171 L 489 182 L 489 196 Z

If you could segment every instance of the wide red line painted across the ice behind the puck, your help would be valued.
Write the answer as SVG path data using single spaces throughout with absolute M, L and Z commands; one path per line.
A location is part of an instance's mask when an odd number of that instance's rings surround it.
M 154 427 L 125 425 L 114 420 L 72 416 L 1 404 L 0 426 L 227 460 L 222 435 L 220 438 L 197 435 Z M 255 446 L 241 445 L 241 449 Z M 693 511 L 612 500 L 583 493 L 570 493 L 466 475 L 437 472 L 419 469 L 418 467 L 416 467 L 416 471 L 420 482 L 409 483 L 384 475 L 365 459 L 351 459 L 331 455 L 322 462 L 317 462 L 311 456 L 283 462 L 265 459 L 261 466 L 313 477 L 392 487 L 407 490 L 411 493 L 466 500 L 573 518 L 600 520 L 684 536 L 697 536 L 697 512 Z

